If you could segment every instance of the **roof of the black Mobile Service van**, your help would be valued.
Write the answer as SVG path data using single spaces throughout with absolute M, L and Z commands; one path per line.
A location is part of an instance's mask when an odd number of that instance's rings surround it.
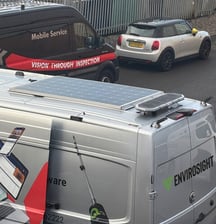
M 49 19 L 73 17 L 82 18 L 77 9 L 61 4 L 38 2 L 27 2 L 12 6 L 0 4 L 0 29 Z

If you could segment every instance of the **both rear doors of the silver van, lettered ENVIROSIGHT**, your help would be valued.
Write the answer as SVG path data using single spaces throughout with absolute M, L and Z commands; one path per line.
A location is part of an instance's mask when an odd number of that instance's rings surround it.
M 206 109 L 155 134 L 154 223 L 215 224 L 215 130 Z

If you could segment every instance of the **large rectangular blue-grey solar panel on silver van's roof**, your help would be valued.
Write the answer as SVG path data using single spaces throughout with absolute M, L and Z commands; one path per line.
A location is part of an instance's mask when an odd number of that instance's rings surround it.
M 49 97 L 113 109 L 128 109 L 161 91 L 84 79 L 52 77 L 10 89 L 11 92 Z

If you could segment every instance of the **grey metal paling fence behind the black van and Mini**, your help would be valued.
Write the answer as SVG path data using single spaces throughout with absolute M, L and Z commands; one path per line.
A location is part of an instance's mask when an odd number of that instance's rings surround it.
M 216 0 L 0 0 L 0 3 L 28 1 L 73 6 L 101 35 L 121 32 L 128 23 L 142 18 L 192 19 L 210 15 L 216 10 Z

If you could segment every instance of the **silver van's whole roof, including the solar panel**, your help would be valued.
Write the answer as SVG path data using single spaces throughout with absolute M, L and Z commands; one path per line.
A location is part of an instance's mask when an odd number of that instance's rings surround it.
M 199 101 L 184 98 L 181 94 L 166 95 L 153 89 L 29 72 L 17 76 L 15 71 L 6 69 L 0 69 L 0 84 L 1 107 L 66 119 L 79 120 L 89 116 L 91 119 L 108 119 L 109 123 L 150 127 L 176 110 L 204 109 Z M 164 96 L 168 96 L 171 104 Z M 168 104 L 160 108 L 159 99 L 165 99 Z M 158 114 L 146 112 L 146 105 L 142 107 L 143 103 L 152 106 L 155 102 L 159 105 L 158 111 L 162 109 Z

